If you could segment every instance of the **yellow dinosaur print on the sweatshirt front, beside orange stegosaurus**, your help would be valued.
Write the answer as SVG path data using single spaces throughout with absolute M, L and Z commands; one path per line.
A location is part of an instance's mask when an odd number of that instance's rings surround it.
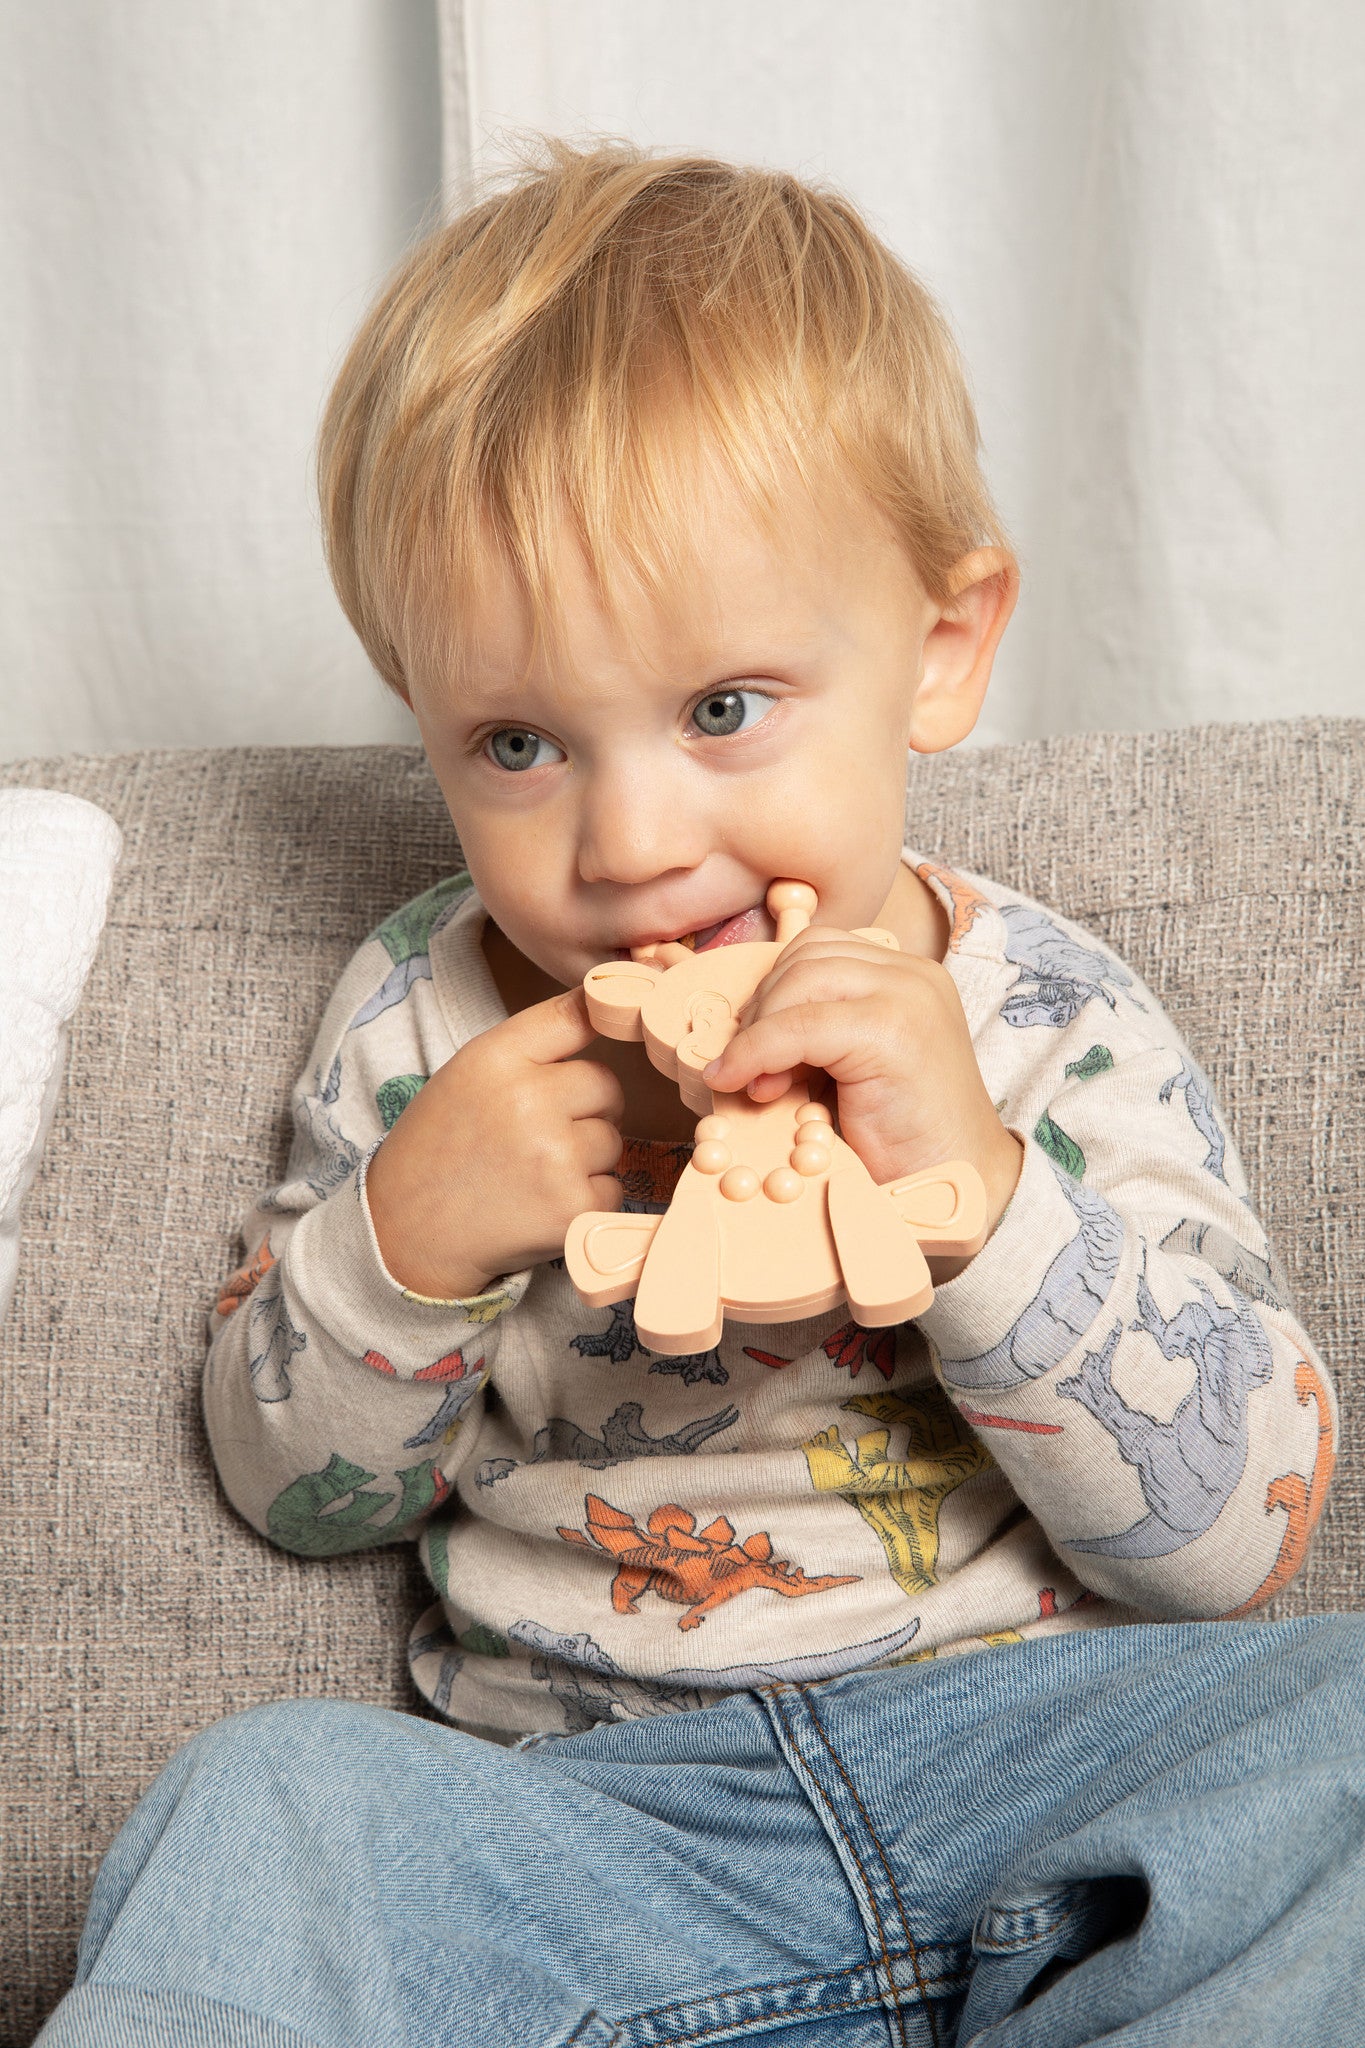
M 964 1427 L 939 1386 L 913 1395 L 884 1389 L 841 1407 L 870 1415 L 880 1427 L 855 1438 L 851 1450 L 837 1423 L 802 1444 L 810 1485 L 817 1493 L 841 1493 L 876 1530 L 900 1591 L 923 1593 L 937 1585 L 943 1501 L 976 1473 L 986 1473 L 995 1458 Z M 890 1458 L 890 1432 L 898 1423 L 909 1434 L 907 1456 Z

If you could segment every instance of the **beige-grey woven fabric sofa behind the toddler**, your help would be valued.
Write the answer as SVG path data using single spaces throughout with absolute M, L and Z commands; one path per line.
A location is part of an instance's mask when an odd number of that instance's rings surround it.
M 287 1694 L 415 1710 L 407 1550 L 305 1563 L 217 1491 L 203 1317 L 289 1087 L 379 918 L 458 866 L 405 748 L 23 762 L 125 834 L 0 1327 L 4 2044 L 70 1980 L 98 1858 L 172 1749 Z M 1275 1612 L 1361 1606 L 1365 719 L 917 762 L 907 831 L 1103 934 L 1214 1077 L 1345 1395 L 1328 1518 Z

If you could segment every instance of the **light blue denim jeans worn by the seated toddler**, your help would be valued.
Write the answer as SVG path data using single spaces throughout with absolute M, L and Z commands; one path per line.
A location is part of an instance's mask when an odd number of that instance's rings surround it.
M 41 2048 L 1365 2042 L 1365 1616 L 1052 1636 L 522 1749 L 254 1708 Z

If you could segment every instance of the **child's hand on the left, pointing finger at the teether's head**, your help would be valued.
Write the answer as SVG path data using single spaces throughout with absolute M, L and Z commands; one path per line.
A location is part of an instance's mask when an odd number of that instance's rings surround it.
M 559 1257 L 583 1208 L 620 1208 L 624 1090 L 591 1044 L 583 989 L 471 1038 L 413 1096 L 366 1174 L 385 1266 L 458 1300 Z

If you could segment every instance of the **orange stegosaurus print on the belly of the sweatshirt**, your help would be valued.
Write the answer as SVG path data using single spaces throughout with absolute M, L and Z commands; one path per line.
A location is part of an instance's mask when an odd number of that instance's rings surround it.
M 772 1554 L 772 1538 L 757 1530 L 735 1540 L 735 1526 L 724 1516 L 716 1516 L 704 1530 L 698 1530 L 696 1516 L 675 1501 L 655 1507 L 645 1528 L 641 1528 L 620 1507 L 612 1507 L 598 1493 L 583 1495 L 587 1534 L 581 1530 L 559 1530 L 565 1542 L 577 1542 L 585 1550 L 606 1550 L 618 1559 L 612 1579 L 612 1606 L 618 1614 L 639 1614 L 641 1593 L 657 1593 L 688 1612 L 679 1618 L 679 1628 L 700 1628 L 712 1608 L 747 1593 L 751 1587 L 765 1587 L 769 1593 L 784 1593 L 796 1599 L 800 1593 L 823 1593 L 831 1585 L 853 1585 L 857 1573 L 843 1579 L 808 1579 L 800 1565 L 788 1565 Z

